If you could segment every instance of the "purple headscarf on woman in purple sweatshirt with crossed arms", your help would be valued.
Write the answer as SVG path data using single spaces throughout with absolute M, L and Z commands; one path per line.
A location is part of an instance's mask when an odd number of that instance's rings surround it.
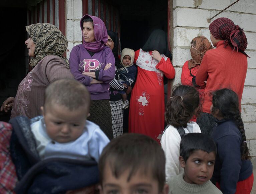
M 107 29 L 104 22 L 96 16 L 84 15 L 80 20 L 81 31 L 83 32 L 83 20 L 86 18 L 91 18 L 93 21 L 93 32 L 95 42 L 87 43 L 83 41 L 83 46 L 86 50 L 91 52 L 98 52 L 104 47 L 107 47 Z M 82 33 L 83 36 L 83 33 Z M 84 40 L 84 37 L 83 37 Z

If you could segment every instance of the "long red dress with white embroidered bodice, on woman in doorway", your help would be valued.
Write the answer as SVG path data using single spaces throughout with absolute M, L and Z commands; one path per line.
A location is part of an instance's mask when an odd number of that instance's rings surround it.
M 142 49 L 135 52 L 138 74 L 130 100 L 129 133 L 144 134 L 160 142 L 165 123 L 163 74 L 173 79 L 175 69 L 170 58 L 161 54 L 158 62 L 151 53 Z

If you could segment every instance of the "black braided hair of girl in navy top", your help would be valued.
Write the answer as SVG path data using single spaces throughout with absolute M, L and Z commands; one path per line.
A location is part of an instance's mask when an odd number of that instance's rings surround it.
M 224 119 L 232 119 L 242 135 L 243 143 L 241 144 L 241 159 L 251 159 L 249 149 L 246 143 L 244 123 L 239 110 L 237 94 L 227 88 L 213 92 L 212 114 L 219 111 L 219 115 Z

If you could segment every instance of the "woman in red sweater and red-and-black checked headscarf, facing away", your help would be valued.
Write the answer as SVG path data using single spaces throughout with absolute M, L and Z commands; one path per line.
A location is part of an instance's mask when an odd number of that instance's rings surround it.
M 216 49 L 205 53 L 198 68 L 196 84 L 205 87 L 202 114 L 197 123 L 202 133 L 211 134 L 215 119 L 211 115 L 212 91 L 229 88 L 236 92 L 241 104 L 247 71 L 247 39 L 243 30 L 228 18 L 218 18 L 209 27 Z M 241 109 L 241 105 L 240 105 Z

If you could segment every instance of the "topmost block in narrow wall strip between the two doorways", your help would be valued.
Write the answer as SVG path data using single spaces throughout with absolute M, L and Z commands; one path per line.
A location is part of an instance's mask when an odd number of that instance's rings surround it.
M 81 19 L 82 0 L 67 0 L 67 19 Z

